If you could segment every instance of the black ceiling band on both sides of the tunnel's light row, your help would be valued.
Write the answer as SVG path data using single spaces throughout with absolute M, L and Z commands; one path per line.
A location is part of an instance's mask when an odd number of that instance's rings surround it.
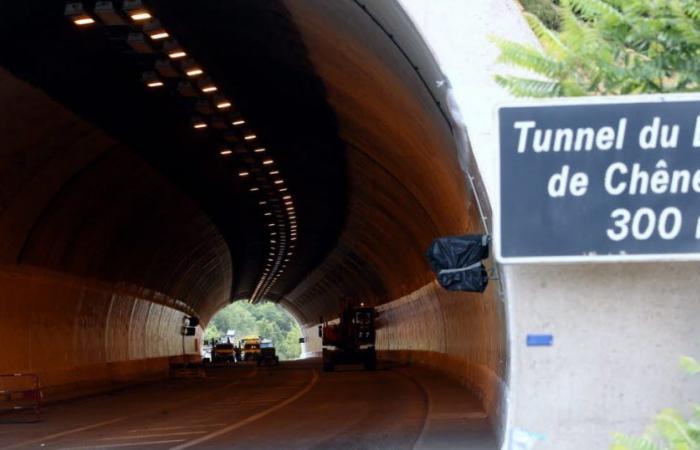
M 94 3 L 83 2 L 89 11 Z M 299 238 L 286 271 L 267 295 L 277 300 L 324 259 L 345 221 L 346 154 L 324 85 L 279 1 L 144 3 L 245 117 L 248 130 L 258 136 L 256 146 L 267 149 L 265 156 L 275 160 L 294 197 Z M 245 154 L 220 155 L 220 132 L 191 127 L 197 114 L 193 99 L 170 84 L 145 88 L 142 73 L 153 70 L 157 58 L 126 45 L 129 27 L 77 28 L 64 17 L 62 1 L 1 6 L 0 66 L 128 146 L 191 197 L 230 248 L 231 300 L 249 298 L 270 245 L 259 202 L 274 189 L 271 180 L 261 178 L 255 180 L 261 191 L 250 192 L 250 179 L 238 176 L 253 166 L 253 147 Z

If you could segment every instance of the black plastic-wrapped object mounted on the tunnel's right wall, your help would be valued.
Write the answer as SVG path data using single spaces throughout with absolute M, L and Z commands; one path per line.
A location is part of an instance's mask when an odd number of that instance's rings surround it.
M 485 234 L 435 239 L 426 257 L 440 286 L 448 291 L 484 292 L 489 275 L 481 261 L 489 256 L 490 240 Z

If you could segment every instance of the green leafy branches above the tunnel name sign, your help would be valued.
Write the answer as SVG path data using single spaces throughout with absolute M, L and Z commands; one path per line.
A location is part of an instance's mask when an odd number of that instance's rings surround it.
M 542 50 L 494 39 L 500 61 L 534 77 L 497 75 L 519 97 L 700 90 L 698 0 L 561 0 L 561 30 L 525 13 Z

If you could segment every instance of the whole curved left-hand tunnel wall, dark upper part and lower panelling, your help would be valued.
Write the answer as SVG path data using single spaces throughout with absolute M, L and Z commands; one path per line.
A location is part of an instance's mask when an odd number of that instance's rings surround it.
M 49 397 L 163 376 L 228 303 L 226 243 L 128 148 L 0 71 L 0 372 Z M 9 137 L 9 139 L 8 139 Z

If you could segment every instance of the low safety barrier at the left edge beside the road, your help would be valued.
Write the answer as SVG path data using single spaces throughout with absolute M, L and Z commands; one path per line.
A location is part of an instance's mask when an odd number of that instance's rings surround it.
M 36 374 L 0 374 L 0 422 L 39 421 L 42 397 Z

